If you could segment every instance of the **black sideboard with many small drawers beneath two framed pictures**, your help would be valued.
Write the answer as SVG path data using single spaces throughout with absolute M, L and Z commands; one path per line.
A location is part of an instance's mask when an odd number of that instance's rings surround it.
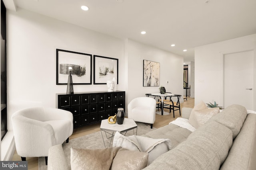
M 74 129 L 98 123 L 125 109 L 125 91 L 56 94 L 56 107 L 73 114 Z M 125 112 L 124 112 L 125 113 Z

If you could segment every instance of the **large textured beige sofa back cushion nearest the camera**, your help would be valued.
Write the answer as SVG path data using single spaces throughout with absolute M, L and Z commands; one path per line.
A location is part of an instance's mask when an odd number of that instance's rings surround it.
M 232 146 L 232 131 L 217 122 L 207 123 L 194 131 L 186 141 L 162 154 L 145 170 L 219 169 Z

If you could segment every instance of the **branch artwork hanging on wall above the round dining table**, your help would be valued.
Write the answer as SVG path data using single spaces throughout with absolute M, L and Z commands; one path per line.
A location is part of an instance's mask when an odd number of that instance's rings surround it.
M 143 87 L 160 86 L 160 63 L 143 60 Z

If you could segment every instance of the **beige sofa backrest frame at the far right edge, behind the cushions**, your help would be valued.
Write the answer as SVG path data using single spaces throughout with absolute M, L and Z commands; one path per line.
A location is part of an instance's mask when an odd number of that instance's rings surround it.
M 248 114 L 221 170 L 252 170 L 256 167 L 256 114 Z

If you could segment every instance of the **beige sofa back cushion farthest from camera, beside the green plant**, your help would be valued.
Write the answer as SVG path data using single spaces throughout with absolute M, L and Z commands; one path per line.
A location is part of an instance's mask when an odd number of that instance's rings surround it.
M 233 139 L 240 132 L 243 126 L 244 120 L 246 119 L 247 111 L 246 108 L 237 104 L 226 107 L 222 112 L 211 117 L 208 122 L 216 121 L 233 132 Z

